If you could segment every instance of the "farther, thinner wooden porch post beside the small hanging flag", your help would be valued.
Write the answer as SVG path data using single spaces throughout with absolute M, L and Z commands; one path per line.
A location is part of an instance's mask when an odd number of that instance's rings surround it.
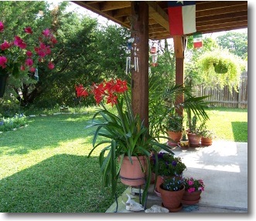
M 184 51 L 186 48 L 186 39 L 182 36 L 173 36 L 174 51 L 176 57 L 176 85 L 184 84 Z M 184 102 L 184 95 L 176 97 L 176 104 Z M 183 116 L 183 108 L 176 109 L 179 116 Z

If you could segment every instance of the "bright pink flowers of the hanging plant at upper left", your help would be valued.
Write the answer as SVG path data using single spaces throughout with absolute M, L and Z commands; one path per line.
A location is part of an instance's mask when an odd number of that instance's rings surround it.
M 32 28 L 26 27 L 21 35 L 5 39 L 5 25 L 0 21 L 0 74 L 33 73 L 38 62 L 47 62 L 48 68 L 54 69 L 53 62 L 49 59 L 51 48 L 57 42 L 53 33 L 46 28 L 35 44 L 31 43 L 29 35 L 33 35 Z

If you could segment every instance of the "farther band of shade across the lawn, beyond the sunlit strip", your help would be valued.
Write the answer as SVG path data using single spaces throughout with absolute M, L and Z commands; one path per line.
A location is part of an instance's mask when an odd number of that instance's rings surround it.
M 1 135 L 0 154 L 26 154 L 31 150 L 55 148 L 60 143 L 76 139 L 88 139 L 94 134 L 94 129 L 85 129 L 91 118 L 90 115 L 60 115 L 29 119 L 26 128 Z

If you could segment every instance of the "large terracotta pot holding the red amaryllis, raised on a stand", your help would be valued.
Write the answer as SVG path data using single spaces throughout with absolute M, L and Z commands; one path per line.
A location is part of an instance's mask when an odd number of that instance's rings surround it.
M 146 158 L 145 156 L 138 156 L 138 158 L 131 156 L 131 160 L 132 164 L 128 156 L 125 156 L 123 159 L 119 174 L 121 182 L 128 186 L 141 186 L 145 184 L 145 172 L 147 171 Z

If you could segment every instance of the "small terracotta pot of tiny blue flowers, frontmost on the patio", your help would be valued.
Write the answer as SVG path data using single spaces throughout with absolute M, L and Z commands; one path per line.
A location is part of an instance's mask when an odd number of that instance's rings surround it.
M 162 206 L 169 209 L 170 212 L 178 212 L 180 209 L 183 209 L 182 199 L 185 193 L 185 186 L 182 175 L 166 177 L 160 185 L 159 190 L 162 198 Z

